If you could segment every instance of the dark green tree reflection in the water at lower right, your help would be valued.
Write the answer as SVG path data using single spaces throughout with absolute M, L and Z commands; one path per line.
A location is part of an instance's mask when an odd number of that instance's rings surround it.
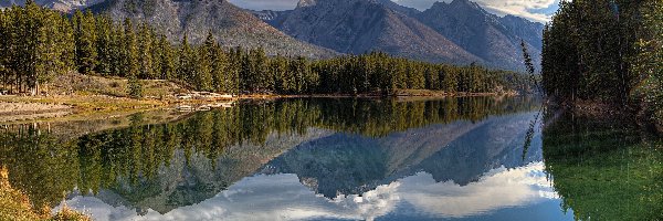
M 544 130 L 546 172 L 577 220 L 663 219 L 663 140 L 570 113 Z

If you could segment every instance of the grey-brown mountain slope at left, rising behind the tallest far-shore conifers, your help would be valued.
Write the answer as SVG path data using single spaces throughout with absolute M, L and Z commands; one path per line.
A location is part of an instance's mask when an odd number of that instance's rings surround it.
M 227 0 L 42 0 L 40 6 L 65 2 L 95 13 L 148 22 L 173 42 L 185 33 L 192 43 L 200 43 L 212 31 L 224 46 L 259 48 L 271 54 L 307 57 L 330 57 L 337 53 L 297 41 L 255 18 Z M 10 2 L 11 3 L 11 2 Z M 21 3 L 21 2 L 17 2 Z

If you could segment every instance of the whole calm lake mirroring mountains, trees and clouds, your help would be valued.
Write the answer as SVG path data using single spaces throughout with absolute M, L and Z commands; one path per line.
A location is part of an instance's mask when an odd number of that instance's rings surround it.
M 0 134 L 13 188 L 95 220 L 663 218 L 663 143 L 532 97 L 244 101 Z

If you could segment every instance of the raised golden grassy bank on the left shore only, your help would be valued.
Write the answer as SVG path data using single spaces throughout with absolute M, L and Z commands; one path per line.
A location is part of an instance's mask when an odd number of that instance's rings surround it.
M 128 95 L 126 78 L 70 73 L 55 77 L 39 96 L 0 96 L 0 123 L 59 118 L 87 119 L 165 108 L 190 91 L 169 81 L 141 81 L 145 98 Z M 188 101 L 203 102 L 203 101 Z

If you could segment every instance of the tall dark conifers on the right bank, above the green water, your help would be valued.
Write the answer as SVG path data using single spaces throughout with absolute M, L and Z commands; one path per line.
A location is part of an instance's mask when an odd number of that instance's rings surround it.
M 663 119 L 663 2 L 562 1 L 544 31 L 543 87 L 560 101 Z

